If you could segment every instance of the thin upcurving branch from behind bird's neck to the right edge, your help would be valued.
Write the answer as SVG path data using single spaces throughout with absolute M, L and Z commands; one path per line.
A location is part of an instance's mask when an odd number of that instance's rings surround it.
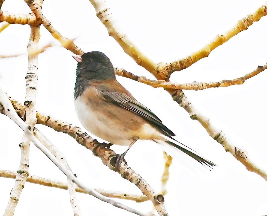
M 171 88 L 171 89 L 187 89 L 187 90 L 203 90 L 207 88 L 218 88 L 218 87 L 228 87 L 230 85 L 241 85 L 243 84 L 247 79 L 256 76 L 260 72 L 267 69 L 267 65 L 264 66 L 258 66 L 256 70 L 252 71 L 251 73 L 246 74 L 245 76 L 242 76 L 237 79 L 231 79 L 231 80 L 222 80 L 221 82 L 191 82 L 191 83 L 184 83 L 180 84 L 177 82 L 167 82 L 165 80 L 151 80 L 147 79 L 144 76 L 136 76 L 131 72 L 125 71 L 122 68 L 114 68 L 115 72 L 119 76 L 124 76 L 130 79 L 133 79 L 138 82 L 145 83 L 147 85 L 150 85 L 154 88 Z

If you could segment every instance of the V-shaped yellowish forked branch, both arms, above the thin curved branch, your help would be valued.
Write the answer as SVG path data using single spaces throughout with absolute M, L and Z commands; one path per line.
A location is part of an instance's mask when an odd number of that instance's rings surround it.
M 126 33 L 119 29 L 118 24 L 112 17 L 112 13 L 105 1 L 90 0 L 90 2 L 96 10 L 96 16 L 105 25 L 109 35 L 119 43 L 125 53 L 131 56 L 138 65 L 147 69 L 159 80 L 168 79 L 172 72 L 181 71 L 182 69 L 191 66 L 198 60 L 207 57 L 212 50 L 222 45 L 241 31 L 248 29 L 248 27 L 254 22 L 259 21 L 261 17 L 267 15 L 267 7 L 265 5 L 261 6 L 253 14 L 250 14 L 246 18 L 239 20 L 231 29 L 226 31 L 224 34 L 217 35 L 215 39 L 213 39 L 208 45 L 201 48 L 197 52 L 192 53 L 190 56 L 182 60 L 171 62 L 170 64 L 155 64 L 144 53 L 142 53 L 142 51 L 139 50 L 136 45 L 134 45 L 134 43 L 127 37 Z

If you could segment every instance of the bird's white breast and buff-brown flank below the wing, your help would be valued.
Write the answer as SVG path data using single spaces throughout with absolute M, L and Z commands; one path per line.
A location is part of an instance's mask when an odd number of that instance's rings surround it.
M 97 95 L 82 94 L 74 101 L 77 116 L 90 133 L 112 144 L 130 145 L 135 137 L 136 125 L 129 126 L 122 121 L 123 114 L 114 105 L 102 101 Z M 114 107 L 113 107 L 114 106 Z M 127 118 L 126 118 L 127 119 Z M 131 119 L 128 120 L 129 124 Z

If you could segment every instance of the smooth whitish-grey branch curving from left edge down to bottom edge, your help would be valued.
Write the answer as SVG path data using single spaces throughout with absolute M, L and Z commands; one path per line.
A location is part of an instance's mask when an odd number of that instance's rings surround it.
M 42 143 L 40 140 L 38 140 L 33 131 L 31 131 L 31 127 L 27 125 L 15 112 L 10 100 L 8 99 L 7 95 L 4 94 L 0 87 L 0 102 L 3 107 L 2 112 L 7 115 L 10 119 L 12 119 L 22 130 L 27 134 L 27 136 L 30 138 L 30 140 L 33 142 L 33 144 L 39 148 L 71 181 L 76 183 L 79 187 L 86 190 L 90 195 L 93 195 L 94 197 L 98 198 L 99 200 L 102 200 L 104 202 L 110 203 L 111 205 L 124 209 L 126 211 L 132 212 L 136 215 L 145 216 L 144 213 L 139 212 L 135 209 L 132 209 L 128 206 L 125 206 L 119 202 L 116 202 L 115 200 L 108 199 L 107 197 L 104 197 L 102 194 L 99 194 L 95 190 L 87 187 L 85 184 L 83 184 L 80 180 L 77 179 L 77 177 L 72 173 L 70 169 L 65 167 L 65 164 L 59 163 L 59 159 L 56 158 Z

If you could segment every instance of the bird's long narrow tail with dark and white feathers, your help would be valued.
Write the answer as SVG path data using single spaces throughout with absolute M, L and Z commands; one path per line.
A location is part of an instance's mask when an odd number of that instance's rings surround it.
M 169 141 L 170 139 L 172 141 Z M 188 155 L 191 158 L 195 159 L 202 166 L 204 166 L 205 168 L 207 168 L 209 170 L 210 170 L 210 168 L 213 168 L 214 166 L 217 166 L 215 163 L 212 163 L 211 161 L 209 161 L 209 160 L 205 159 L 204 157 L 200 156 L 200 154 L 198 154 L 197 152 L 195 152 L 191 148 L 187 147 L 186 145 L 183 145 L 182 143 L 180 143 L 179 141 L 175 140 L 172 137 L 165 137 L 164 136 L 163 140 L 154 140 L 154 141 L 156 143 L 159 143 L 162 146 L 163 151 L 165 151 L 171 157 L 175 157 L 174 154 L 176 154 L 176 153 L 180 153 L 180 154 L 185 153 L 186 155 Z M 183 155 L 185 156 L 185 154 L 183 154 Z M 180 157 L 180 156 L 181 155 L 179 155 L 178 157 Z

